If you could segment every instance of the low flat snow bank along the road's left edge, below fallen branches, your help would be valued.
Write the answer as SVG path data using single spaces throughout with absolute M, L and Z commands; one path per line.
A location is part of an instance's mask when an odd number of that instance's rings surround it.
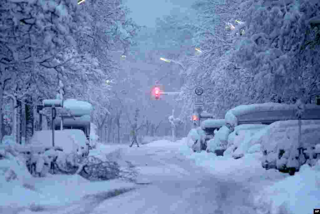
M 85 195 L 135 186 L 122 180 L 90 182 L 80 175 L 48 175 L 45 178 L 33 179 L 34 190 L 23 188 L 14 182 L 0 182 L 1 203 L 8 209 L 4 213 L 14 213 L 12 209 L 25 206 L 41 206 L 44 210 L 51 206 L 62 207 L 82 200 Z

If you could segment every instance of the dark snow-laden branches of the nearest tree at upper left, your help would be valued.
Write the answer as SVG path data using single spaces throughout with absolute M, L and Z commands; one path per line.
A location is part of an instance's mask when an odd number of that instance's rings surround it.
M 35 80 L 48 80 L 50 71 L 45 68 L 57 65 L 57 54 L 67 44 L 75 45 L 71 33 L 79 30 L 84 21 L 83 14 L 77 9 L 76 2 L 69 0 L 1 2 L 0 106 L 6 81 L 15 82 L 13 78 L 22 71 L 29 77 L 36 74 L 33 76 Z M 39 70 L 44 70 L 44 75 L 38 75 Z

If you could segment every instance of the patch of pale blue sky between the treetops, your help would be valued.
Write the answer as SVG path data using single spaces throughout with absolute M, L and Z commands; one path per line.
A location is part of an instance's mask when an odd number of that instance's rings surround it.
M 132 13 L 130 17 L 139 24 L 154 27 L 156 18 L 169 15 L 172 10 L 186 12 L 196 0 L 124 0 Z M 187 15 L 187 12 L 186 12 Z

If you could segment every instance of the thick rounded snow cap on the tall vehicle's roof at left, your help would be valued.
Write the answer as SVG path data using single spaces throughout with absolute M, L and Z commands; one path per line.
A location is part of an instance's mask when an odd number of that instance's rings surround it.
M 90 115 L 92 111 L 90 103 L 76 99 L 66 99 L 63 102 L 63 107 L 69 109 L 73 116 Z

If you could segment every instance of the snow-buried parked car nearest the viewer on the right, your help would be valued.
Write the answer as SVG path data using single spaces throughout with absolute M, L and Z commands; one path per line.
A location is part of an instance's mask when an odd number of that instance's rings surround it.
M 261 145 L 263 168 L 293 174 L 301 165 L 313 166 L 320 159 L 320 121 L 301 120 L 301 145 L 298 139 L 298 120 L 277 121 L 257 133 L 252 144 Z

